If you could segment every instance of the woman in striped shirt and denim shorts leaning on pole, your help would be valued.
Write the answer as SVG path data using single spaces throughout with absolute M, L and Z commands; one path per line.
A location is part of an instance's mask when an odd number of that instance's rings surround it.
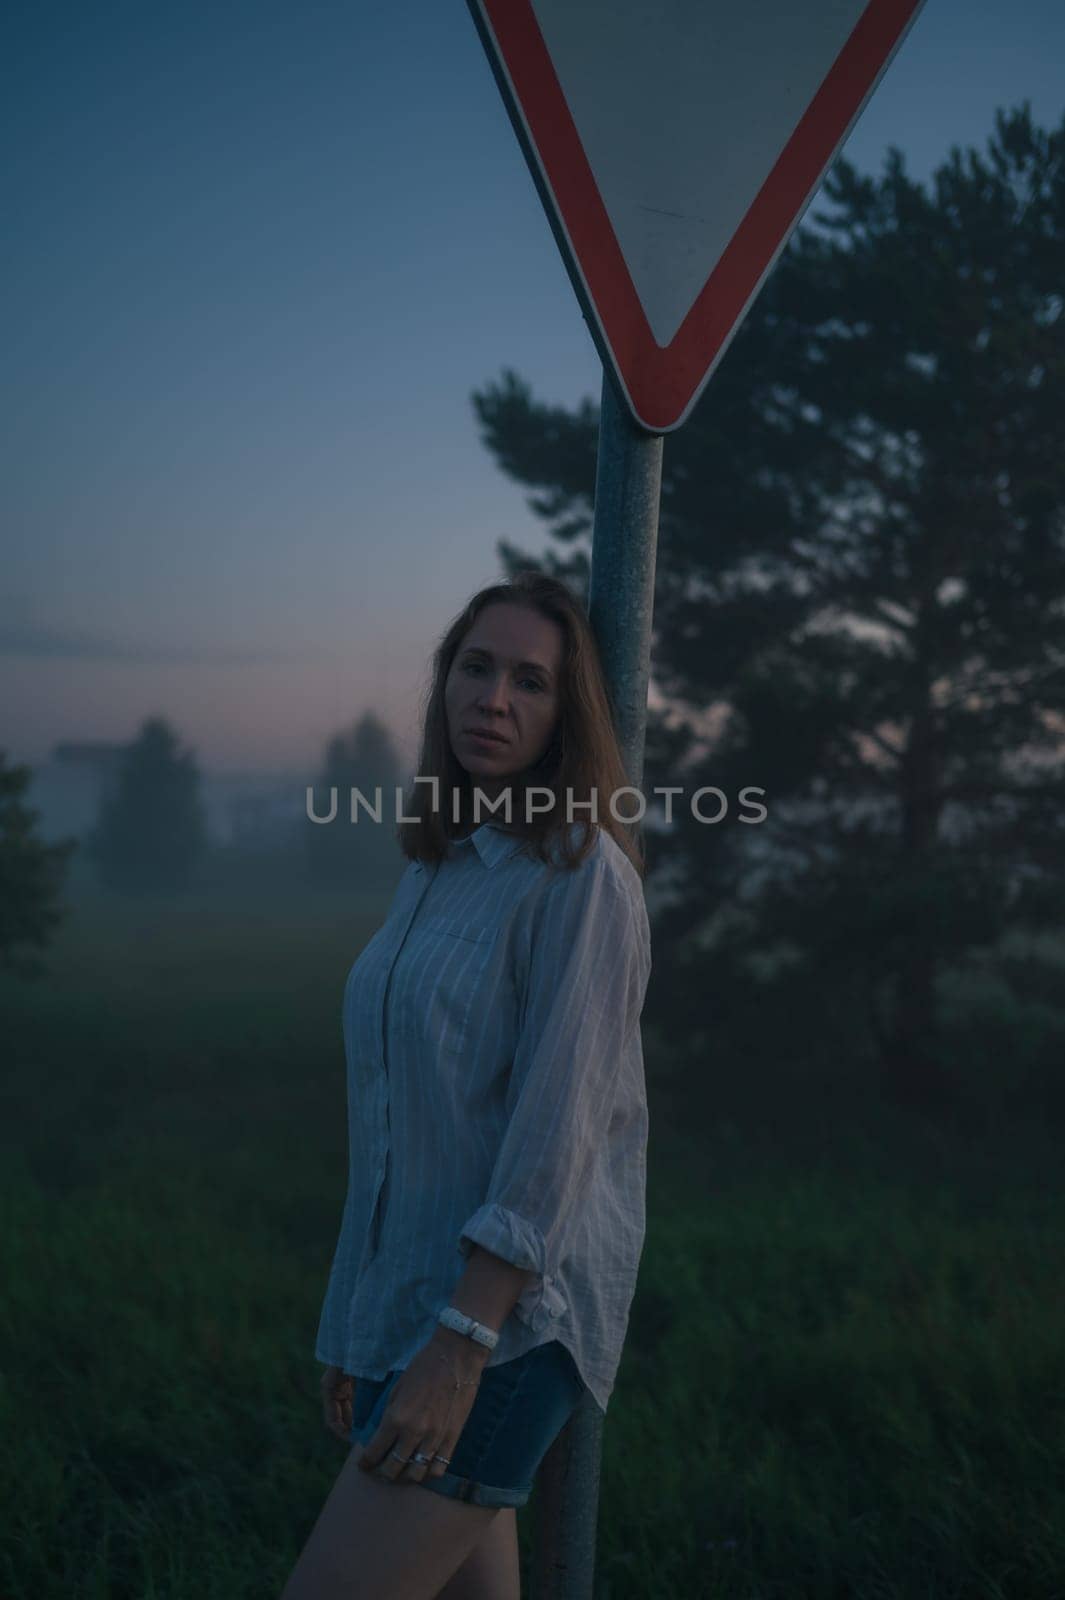
M 326 1427 L 361 1450 L 283 1600 L 517 1600 L 517 1507 L 582 1394 L 606 1411 L 648 1136 L 625 787 L 582 606 L 539 573 L 480 590 L 437 650 L 408 869 L 344 995 L 317 1355 Z

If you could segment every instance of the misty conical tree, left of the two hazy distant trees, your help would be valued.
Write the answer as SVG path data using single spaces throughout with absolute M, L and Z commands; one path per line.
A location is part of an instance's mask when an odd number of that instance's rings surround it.
M 104 797 L 88 854 L 109 888 L 184 888 L 206 848 L 200 773 L 163 717 L 142 723 Z

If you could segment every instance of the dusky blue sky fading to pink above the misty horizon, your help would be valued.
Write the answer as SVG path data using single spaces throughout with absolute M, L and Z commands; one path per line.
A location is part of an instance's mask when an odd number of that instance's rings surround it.
M 600 394 L 465 5 L 10 16 L 0 749 L 163 712 L 304 774 L 373 707 L 413 758 L 437 637 L 545 542 L 470 392 Z M 1063 61 L 1060 0 L 927 0 L 846 154 L 1057 125 Z

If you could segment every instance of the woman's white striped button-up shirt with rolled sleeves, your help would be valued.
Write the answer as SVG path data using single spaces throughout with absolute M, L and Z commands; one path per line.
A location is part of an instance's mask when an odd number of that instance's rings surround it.
M 651 930 L 603 829 L 574 870 L 521 845 L 481 822 L 409 862 L 349 973 L 349 1189 L 315 1355 L 405 1368 L 477 1243 L 534 1274 L 488 1365 L 560 1339 L 606 1411 L 644 1238 Z

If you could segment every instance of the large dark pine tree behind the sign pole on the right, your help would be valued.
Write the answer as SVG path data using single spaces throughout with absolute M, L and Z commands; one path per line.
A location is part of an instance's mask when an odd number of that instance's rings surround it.
M 772 1010 L 779 952 L 795 1048 L 836 1011 L 852 1056 L 857 1016 L 889 1091 L 934 1104 L 937 976 L 1062 912 L 1065 120 L 998 112 L 932 194 L 895 147 L 824 194 L 664 446 L 644 787 L 732 808 L 681 813 L 656 992 L 705 1056 Z M 563 547 L 539 565 L 585 586 L 598 408 L 510 371 L 473 403 Z

